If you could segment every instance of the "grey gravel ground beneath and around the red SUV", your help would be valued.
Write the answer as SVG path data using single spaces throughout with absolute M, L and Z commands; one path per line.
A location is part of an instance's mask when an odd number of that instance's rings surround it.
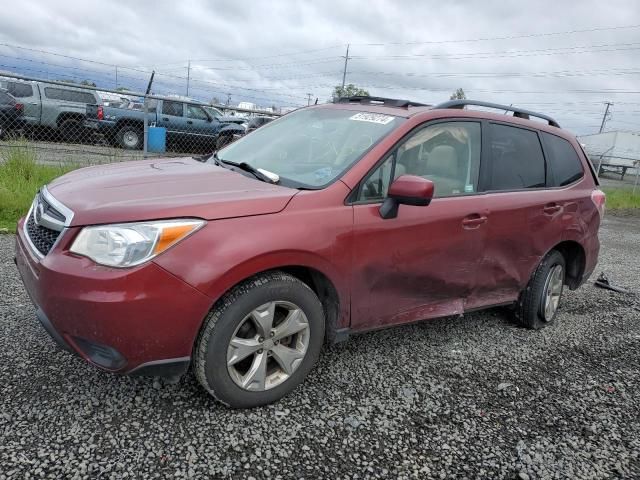
M 598 271 L 640 285 L 640 218 Z M 232 411 L 191 376 L 102 373 L 37 324 L 0 236 L 0 479 L 640 478 L 640 312 L 591 284 L 559 322 L 494 309 L 352 338 L 293 395 Z

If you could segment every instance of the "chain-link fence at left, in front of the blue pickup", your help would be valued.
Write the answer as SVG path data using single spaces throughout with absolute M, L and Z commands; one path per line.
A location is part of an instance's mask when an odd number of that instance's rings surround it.
M 0 159 L 18 150 L 39 163 L 82 166 L 204 154 L 278 115 L 0 74 Z

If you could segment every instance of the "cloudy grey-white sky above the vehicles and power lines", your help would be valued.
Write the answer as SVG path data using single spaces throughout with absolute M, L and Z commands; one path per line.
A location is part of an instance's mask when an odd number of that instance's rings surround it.
M 425 103 L 468 98 L 578 134 L 640 130 L 640 4 L 604 1 L 30 0 L 3 8 L 0 70 L 260 105 L 326 101 L 342 80 Z M 57 54 L 57 55 L 56 55 Z M 118 65 L 116 69 L 116 65 Z

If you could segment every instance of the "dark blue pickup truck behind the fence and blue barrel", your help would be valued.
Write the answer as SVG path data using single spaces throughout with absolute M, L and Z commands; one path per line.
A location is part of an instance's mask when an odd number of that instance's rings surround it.
M 169 143 L 216 149 L 229 143 L 234 133 L 244 133 L 243 127 L 208 114 L 203 105 L 170 98 L 148 102 L 148 124 L 166 128 Z M 88 128 L 124 149 L 142 148 L 144 111 L 87 105 L 86 113 Z

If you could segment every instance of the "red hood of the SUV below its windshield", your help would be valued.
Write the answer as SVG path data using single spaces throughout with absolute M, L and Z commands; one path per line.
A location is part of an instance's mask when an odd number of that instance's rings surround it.
M 192 158 L 82 168 L 47 189 L 74 212 L 72 226 L 264 215 L 281 211 L 298 193 Z

